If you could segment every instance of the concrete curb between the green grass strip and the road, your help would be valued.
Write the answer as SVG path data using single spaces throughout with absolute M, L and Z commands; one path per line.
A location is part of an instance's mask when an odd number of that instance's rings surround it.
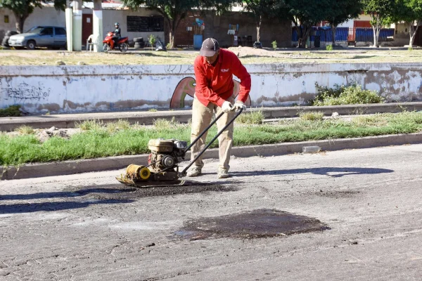
M 279 143 L 275 145 L 252 145 L 232 148 L 231 155 L 236 157 L 287 155 L 302 152 L 302 147 L 317 145 L 323 151 L 335 151 L 358 148 L 377 148 L 389 145 L 407 145 L 422 143 L 422 133 L 409 133 L 387 136 L 369 136 L 364 138 L 339 138 L 328 141 L 303 141 L 299 143 Z M 207 150 L 204 159 L 217 159 L 218 149 Z M 190 159 L 190 153 L 186 154 Z M 70 160 L 63 162 L 25 164 L 18 169 L 8 167 L 0 169 L 1 180 L 38 178 L 44 176 L 64 176 L 94 171 L 124 169 L 129 164 L 148 162 L 148 155 L 129 155 L 94 159 Z M 118 176 L 118 175 L 116 175 Z

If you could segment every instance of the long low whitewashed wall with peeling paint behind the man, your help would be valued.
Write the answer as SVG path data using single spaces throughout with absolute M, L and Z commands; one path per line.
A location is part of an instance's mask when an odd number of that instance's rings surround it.
M 245 65 L 253 107 L 303 104 L 321 86 L 351 84 L 392 101 L 422 100 L 422 63 Z M 169 108 L 192 65 L 0 66 L 0 108 L 41 112 Z M 234 77 L 236 79 L 236 77 Z M 185 105 L 190 105 L 189 96 Z

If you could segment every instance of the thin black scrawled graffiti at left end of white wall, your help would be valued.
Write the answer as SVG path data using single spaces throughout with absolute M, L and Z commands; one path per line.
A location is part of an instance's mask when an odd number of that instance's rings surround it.
M 46 88 L 41 82 L 37 86 L 31 86 L 25 82 L 18 86 L 11 86 L 8 82 L 4 84 L 0 81 L 0 93 L 4 100 L 39 101 L 48 98 L 50 92 L 51 88 Z

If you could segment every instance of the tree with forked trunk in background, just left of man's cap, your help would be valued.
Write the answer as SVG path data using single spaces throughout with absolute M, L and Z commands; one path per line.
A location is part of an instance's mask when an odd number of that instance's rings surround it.
M 209 8 L 217 12 L 225 11 L 232 0 L 123 0 L 124 5 L 134 10 L 141 5 L 146 5 L 149 9 L 160 13 L 169 27 L 169 44 L 174 48 L 174 32 L 180 24 L 180 21 L 186 18 L 186 15 L 194 8 Z

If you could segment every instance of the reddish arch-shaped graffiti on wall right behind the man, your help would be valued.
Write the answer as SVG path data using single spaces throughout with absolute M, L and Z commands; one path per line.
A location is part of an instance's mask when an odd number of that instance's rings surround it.
M 236 98 L 239 94 L 240 83 L 236 80 L 233 81 L 233 97 Z M 181 79 L 179 84 L 177 84 L 176 89 L 174 89 L 172 100 L 170 100 L 170 109 L 184 108 L 186 96 L 193 98 L 193 95 L 195 94 L 195 85 L 196 81 L 193 77 L 185 77 L 184 79 Z M 250 96 L 248 96 L 248 100 L 246 100 L 245 105 L 251 105 Z

